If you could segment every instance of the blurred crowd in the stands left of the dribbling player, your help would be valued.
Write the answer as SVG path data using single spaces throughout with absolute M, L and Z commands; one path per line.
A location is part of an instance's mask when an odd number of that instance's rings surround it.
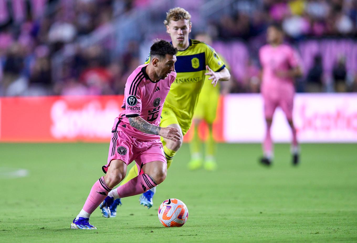
M 52 58 L 114 17 L 145 4 L 145 0 L 0 0 L 0 96 L 120 93 L 115 86 L 121 70 L 127 69 L 120 64 L 124 57 L 112 62 L 96 45 L 76 46 L 60 70 Z

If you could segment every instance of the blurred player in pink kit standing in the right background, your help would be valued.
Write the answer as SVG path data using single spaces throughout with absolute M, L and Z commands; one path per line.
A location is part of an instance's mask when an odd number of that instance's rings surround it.
M 266 120 L 266 135 L 263 141 L 264 156 L 260 162 L 271 165 L 273 145 L 271 140 L 271 124 L 274 111 L 280 107 L 286 115 L 292 131 L 292 163 L 299 162 L 299 146 L 296 139 L 296 129 L 293 124 L 292 110 L 295 95 L 294 79 L 301 76 L 300 60 L 297 52 L 289 45 L 283 44 L 283 31 L 278 25 L 270 25 L 267 30 L 268 44 L 259 50 L 262 72 L 261 93 L 264 100 L 264 115 Z

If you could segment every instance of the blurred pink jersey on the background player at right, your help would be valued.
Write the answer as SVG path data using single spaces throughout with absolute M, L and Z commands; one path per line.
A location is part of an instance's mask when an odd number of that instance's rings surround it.
M 263 95 L 278 98 L 295 93 L 294 80 L 292 78 L 280 78 L 277 71 L 287 71 L 297 67 L 299 58 L 297 52 L 291 46 L 271 45 L 262 46 L 259 50 L 260 63 L 263 67 L 261 92 Z

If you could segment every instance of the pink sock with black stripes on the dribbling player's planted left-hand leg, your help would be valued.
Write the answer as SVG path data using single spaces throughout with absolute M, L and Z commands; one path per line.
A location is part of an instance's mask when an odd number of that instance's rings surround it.
M 90 190 L 89 196 L 87 197 L 86 202 L 84 203 L 83 210 L 87 213 L 92 213 L 108 195 L 108 192 L 111 191 L 111 188 L 107 186 L 104 181 L 104 177 L 100 177 Z

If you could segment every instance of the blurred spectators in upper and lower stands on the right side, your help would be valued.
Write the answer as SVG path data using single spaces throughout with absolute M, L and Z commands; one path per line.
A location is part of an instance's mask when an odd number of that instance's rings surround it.
M 259 91 L 257 53 L 266 43 L 265 31 L 270 23 L 280 24 L 286 41 L 293 45 L 311 38 L 356 40 L 357 37 L 356 0 L 240 0 L 233 1 L 228 9 L 210 21 L 210 34 L 225 41 L 244 40 L 250 52 L 246 73 L 233 82 L 231 92 Z M 304 77 L 297 80 L 297 91 L 357 92 L 356 65 L 347 70 L 346 56 L 339 51 L 334 50 L 337 57 L 328 73 L 323 68 L 325 53 L 316 53 L 313 64 L 305 67 Z M 356 62 L 355 58 L 353 61 Z

